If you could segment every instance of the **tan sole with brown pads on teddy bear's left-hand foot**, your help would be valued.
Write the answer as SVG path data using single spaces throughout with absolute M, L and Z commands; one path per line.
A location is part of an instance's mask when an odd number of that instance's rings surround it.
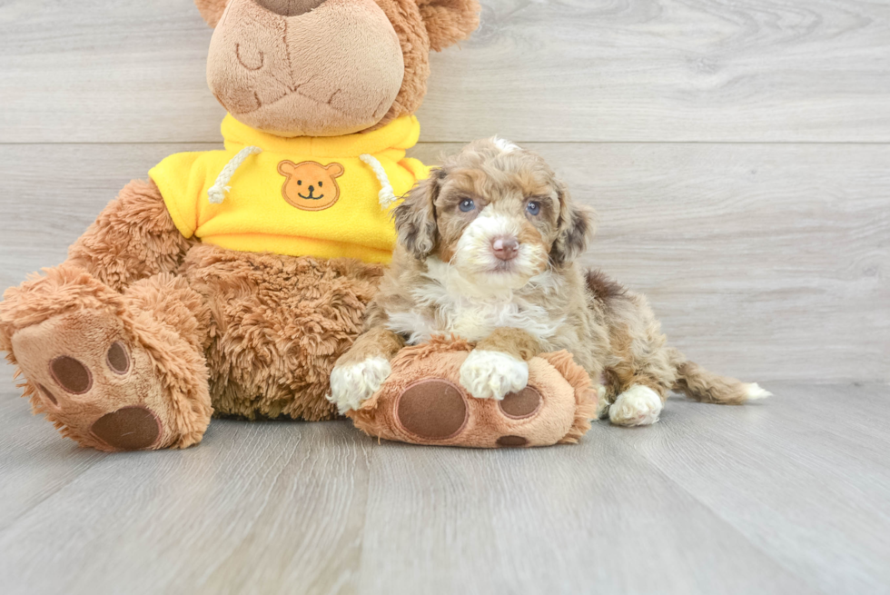
M 113 313 L 83 309 L 15 332 L 15 359 L 43 412 L 64 436 L 100 451 L 200 441 L 210 407 L 183 431 L 153 357 Z M 189 425 L 189 424 L 186 424 Z M 193 435 L 192 435 L 193 434 Z M 191 436 L 191 437 L 190 437 Z

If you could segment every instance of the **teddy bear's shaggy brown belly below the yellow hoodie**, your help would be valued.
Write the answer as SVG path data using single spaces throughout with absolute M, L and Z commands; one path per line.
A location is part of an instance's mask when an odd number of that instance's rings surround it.
M 334 362 L 361 331 L 379 264 L 199 245 L 183 276 L 213 312 L 206 356 L 219 414 L 308 421 L 336 410 L 325 400 Z

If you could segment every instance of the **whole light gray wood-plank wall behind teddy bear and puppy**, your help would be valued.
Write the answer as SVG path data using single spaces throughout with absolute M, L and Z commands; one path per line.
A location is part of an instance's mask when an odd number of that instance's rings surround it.
M 890 381 L 890 3 L 482 3 L 433 56 L 415 156 L 544 154 L 598 210 L 584 262 L 709 367 Z M 6 287 L 163 156 L 216 146 L 223 109 L 190 0 L 5 0 L 0 27 Z

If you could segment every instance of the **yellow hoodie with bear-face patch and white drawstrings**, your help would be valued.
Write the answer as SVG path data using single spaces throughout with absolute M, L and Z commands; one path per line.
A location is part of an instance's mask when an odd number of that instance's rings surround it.
M 185 237 L 242 252 L 390 261 L 385 197 L 429 174 L 405 157 L 420 135 L 414 116 L 331 137 L 283 138 L 232 115 L 222 129 L 225 150 L 173 154 L 149 172 Z

